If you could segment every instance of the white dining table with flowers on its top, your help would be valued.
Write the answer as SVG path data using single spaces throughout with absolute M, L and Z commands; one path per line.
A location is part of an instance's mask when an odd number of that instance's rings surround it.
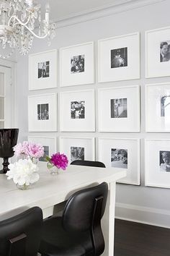
M 39 206 L 43 218 L 53 215 L 54 205 L 68 199 L 76 190 L 102 182 L 109 185 L 107 206 L 102 218 L 105 249 L 102 255 L 114 255 L 115 192 L 116 181 L 126 176 L 126 171 L 113 168 L 68 166 L 66 171 L 51 175 L 45 164 L 40 164 L 40 180 L 27 190 L 20 190 L 5 174 L 0 174 L 0 221 L 33 206 Z

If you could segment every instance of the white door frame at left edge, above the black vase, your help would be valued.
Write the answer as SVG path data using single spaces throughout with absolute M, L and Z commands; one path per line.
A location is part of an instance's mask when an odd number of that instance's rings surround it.
M 16 107 L 16 84 L 17 84 L 17 62 L 0 59 L 0 66 L 11 68 L 12 71 L 12 127 L 17 127 L 17 107 Z

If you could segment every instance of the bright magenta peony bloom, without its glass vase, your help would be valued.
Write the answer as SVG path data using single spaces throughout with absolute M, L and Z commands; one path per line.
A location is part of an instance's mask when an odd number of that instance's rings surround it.
M 64 154 L 55 153 L 51 156 L 50 163 L 52 163 L 57 168 L 66 170 L 66 167 L 68 166 L 68 158 Z

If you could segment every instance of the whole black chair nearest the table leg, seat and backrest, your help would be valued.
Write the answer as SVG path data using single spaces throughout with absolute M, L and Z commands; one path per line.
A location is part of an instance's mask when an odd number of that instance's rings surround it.
M 104 252 L 101 219 L 107 202 L 106 182 L 81 189 L 67 200 L 63 216 L 45 219 L 42 256 L 98 256 Z

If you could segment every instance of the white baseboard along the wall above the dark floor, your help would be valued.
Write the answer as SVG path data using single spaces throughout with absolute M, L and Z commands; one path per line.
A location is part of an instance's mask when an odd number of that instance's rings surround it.
M 170 229 L 170 210 L 116 203 L 115 218 Z

